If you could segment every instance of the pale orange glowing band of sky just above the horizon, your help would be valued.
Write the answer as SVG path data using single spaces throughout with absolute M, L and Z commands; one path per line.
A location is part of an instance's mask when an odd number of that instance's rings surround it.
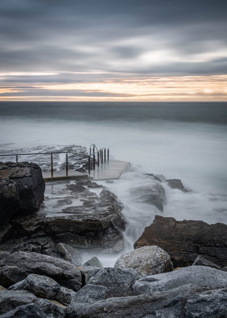
M 26 85 L 31 86 L 29 83 Z M 33 96 L 26 96 L 26 90 L 18 88 L 18 83 L 14 86 L 2 86 L 1 101 L 227 101 L 227 75 L 125 77 L 100 82 L 48 85 L 36 83 L 31 86 L 35 90 Z M 46 91 L 48 96 L 42 95 L 40 89 Z M 52 94 L 54 92 L 53 95 L 48 92 L 50 90 Z M 9 96 L 1 96 L 2 93 Z M 13 94 L 10 96 L 10 93 Z M 20 96 L 16 93 L 20 93 Z

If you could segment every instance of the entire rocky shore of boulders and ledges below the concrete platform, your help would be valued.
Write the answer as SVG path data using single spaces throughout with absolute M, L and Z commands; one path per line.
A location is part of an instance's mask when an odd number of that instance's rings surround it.
M 160 213 L 162 182 L 188 191 L 180 180 L 147 177 L 152 187 L 134 189 L 134 200 Z M 122 250 L 126 220 L 113 193 L 70 183 L 49 215 L 40 213 L 38 165 L 0 163 L 0 178 L 0 318 L 227 317 L 227 225 L 156 215 L 135 249 L 103 268 L 97 257 L 83 263 L 81 251 Z

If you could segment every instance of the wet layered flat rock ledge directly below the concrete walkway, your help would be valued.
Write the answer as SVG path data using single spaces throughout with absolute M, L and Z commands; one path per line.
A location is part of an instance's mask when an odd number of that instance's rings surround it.
M 99 194 L 89 189 L 98 189 Z M 66 184 L 53 195 L 58 197 L 66 193 L 76 201 L 75 205 L 74 201 L 69 204 L 68 200 L 46 198 L 45 208 L 41 209 L 43 213 L 12 217 L 7 228 L 0 229 L 3 237 L 0 251 L 58 254 L 75 265 L 81 265 L 82 260 L 72 248 L 119 252 L 124 245 L 122 230 L 126 221 L 117 197 L 90 180 Z

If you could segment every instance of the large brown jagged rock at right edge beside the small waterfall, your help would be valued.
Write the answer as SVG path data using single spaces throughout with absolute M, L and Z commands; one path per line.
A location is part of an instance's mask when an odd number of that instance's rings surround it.
M 156 215 L 153 223 L 145 228 L 134 248 L 158 245 L 166 251 L 174 267 L 192 265 L 202 255 L 217 265 L 227 263 L 227 225 L 207 224 L 203 221 L 164 218 Z

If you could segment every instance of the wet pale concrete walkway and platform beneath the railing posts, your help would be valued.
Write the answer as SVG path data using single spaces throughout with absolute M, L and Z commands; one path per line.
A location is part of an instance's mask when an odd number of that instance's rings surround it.
M 98 168 L 95 165 L 95 170 L 91 170 L 91 175 L 88 176 L 85 173 L 81 173 L 75 170 L 69 170 L 68 176 L 65 175 L 65 170 L 54 171 L 53 178 L 51 177 L 51 172 L 43 172 L 43 178 L 45 182 L 50 181 L 67 181 L 67 180 L 107 180 L 107 179 L 118 179 L 121 174 L 130 168 L 130 163 L 119 160 L 110 160 L 103 164 L 100 163 Z

